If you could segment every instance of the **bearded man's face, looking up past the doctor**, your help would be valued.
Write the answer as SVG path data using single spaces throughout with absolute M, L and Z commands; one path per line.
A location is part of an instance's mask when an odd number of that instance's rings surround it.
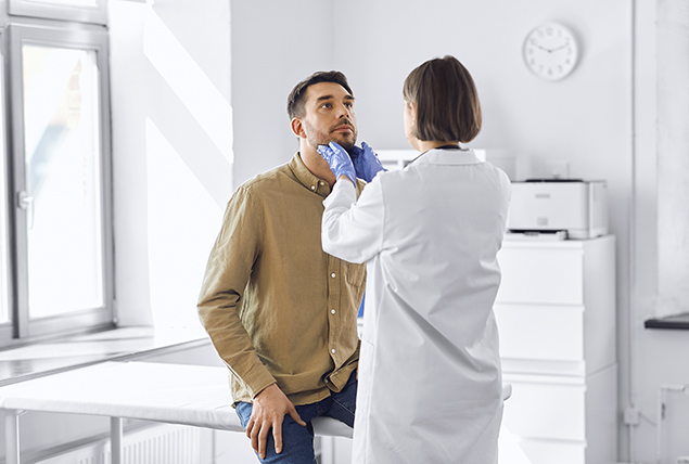
M 357 118 L 354 96 L 335 82 L 318 82 L 306 89 L 304 105 L 306 142 L 314 150 L 318 145 L 337 142 L 350 151 L 357 141 Z

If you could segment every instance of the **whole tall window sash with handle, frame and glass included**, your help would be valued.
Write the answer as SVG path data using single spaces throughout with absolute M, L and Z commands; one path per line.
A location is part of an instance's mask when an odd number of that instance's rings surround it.
M 15 259 L 4 269 L 15 318 L 5 325 L 23 338 L 110 324 L 107 36 L 10 25 L 9 39 Z

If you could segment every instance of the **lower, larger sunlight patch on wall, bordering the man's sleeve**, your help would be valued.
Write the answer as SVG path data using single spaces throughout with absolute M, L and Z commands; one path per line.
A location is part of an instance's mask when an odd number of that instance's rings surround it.
M 150 118 L 145 133 L 153 321 L 202 331 L 196 298 L 222 209 Z

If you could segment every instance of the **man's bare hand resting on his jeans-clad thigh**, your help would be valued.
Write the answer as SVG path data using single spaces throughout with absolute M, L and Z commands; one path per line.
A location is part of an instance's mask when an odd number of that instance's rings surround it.
M 252 415 L 246 424 L 246 436 L 252 439 L 252 448 L 261 460 L 266 457 L 266 442 L 270 428 L 276 442 L 276 453 L 282 452 L 282 421 L 286 414 L 297 424 L 306 426 L 292 401 L 277 384 L 270 385 L 254 398 Z

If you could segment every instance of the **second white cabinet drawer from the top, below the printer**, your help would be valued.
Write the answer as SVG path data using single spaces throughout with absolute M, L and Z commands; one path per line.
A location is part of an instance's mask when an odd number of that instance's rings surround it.
M 495 305 L 500 357 L 584 360 L 584 307 Z

